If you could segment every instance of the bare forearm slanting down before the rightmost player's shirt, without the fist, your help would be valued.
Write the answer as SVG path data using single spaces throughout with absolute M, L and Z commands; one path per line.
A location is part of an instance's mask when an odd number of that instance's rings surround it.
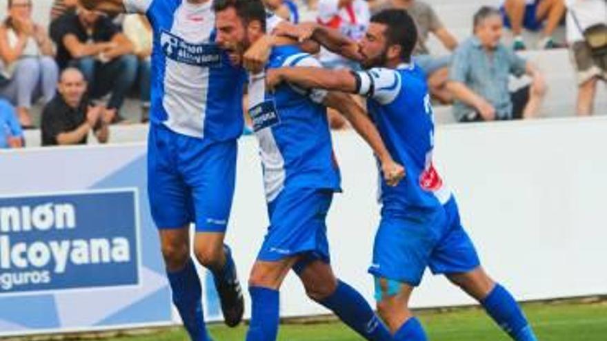
M 350 125 L 371 147 L 381 163 L 392 162 L 392 156 L 366 112 L 348 94 L 343 92 L 330 92 L 325 104 L 344 115 Z

